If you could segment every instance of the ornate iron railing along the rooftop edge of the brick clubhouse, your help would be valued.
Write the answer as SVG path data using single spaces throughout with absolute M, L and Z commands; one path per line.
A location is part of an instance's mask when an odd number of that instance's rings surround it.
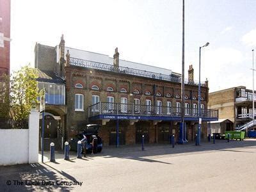
M 129 74 L 132 76 L 139 76 L 139 77 L 148 77 L 151 79 L 159 79 L 164 81 L 171 81 L 175 83 L 181 83 L 181 77 L 175 76 L 168 76 L 164 74 L 159 74 L 156 72 L 148 72 L 147 70 L 139 70 L 135 68 L 128 68 L 128 67 L 117 67 L 114 65 L 109 65 L 107 63 L 99 63 L 95 61 L 88 61 L 82 60 L 78 58 L 71 58 L 70 57 L 70 65 L 75 65 L 79 67 L 86 67 L 86 68 L 93 68 L 97 70 L 106 70 L 109 72 L 116 72 L 119 74 Z M 184 79 L 185 84 L 194 84 L 197 85 L 198 81 L 189 81 L 188 79 Z M 205 83 L 201 83 L 202 86 L 206 86 Z

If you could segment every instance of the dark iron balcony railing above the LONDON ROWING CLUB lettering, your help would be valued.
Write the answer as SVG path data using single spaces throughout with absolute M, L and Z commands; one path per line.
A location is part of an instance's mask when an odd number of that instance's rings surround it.
M 201 109 L 202 118 L 218 118 L 218 110 Z M 138 104 L 121 104 L 98 102 L 88 108 L 88 116 L 97 115 L 136 115 L 136 116 L 181 116 L 181 108 L 166 106 L 148 106 Z M 185 116 L 198 117 L 198 109 L 185 108 Z

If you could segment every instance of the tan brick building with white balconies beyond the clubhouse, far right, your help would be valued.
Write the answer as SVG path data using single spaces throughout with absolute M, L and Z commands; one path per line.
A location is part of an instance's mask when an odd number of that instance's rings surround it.
M 239 127 L 241 129 L 244 125 L 252 122 L 252 95 L 252 90 L 246 89 L 245 86 L 212 92 L 209 93 L 208 107 L 209 109 L 218 109 L 220 119 L 230 120 L 233 123 L 233 130 Z

